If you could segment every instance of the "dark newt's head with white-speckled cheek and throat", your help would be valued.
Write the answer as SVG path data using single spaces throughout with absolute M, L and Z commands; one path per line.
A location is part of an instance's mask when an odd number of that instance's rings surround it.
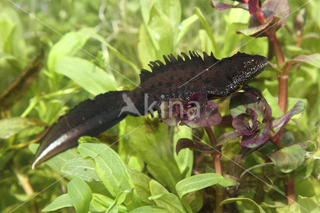
M 248 83 L 260 74 L 267 64 L 266 57 L 262 55 L 250 55 L 241 52 L 223 58 L 223 60 L 232 64 L 232 71 L 227 72 L 227 77 L 236 85 Z

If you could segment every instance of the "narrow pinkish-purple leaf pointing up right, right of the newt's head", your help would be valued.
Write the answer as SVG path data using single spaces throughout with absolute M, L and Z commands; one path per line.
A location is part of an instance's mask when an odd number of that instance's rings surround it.
M 287 113 L 283 114 L 281 117 L 272 120 L 272 129 L 273 131 L 275 131 L 275 135 L 282 131 L 286 123 L 290 120 L 290 118 L 293 115 L 300 113 L 303 109 L 304 102 L 299 100 Z

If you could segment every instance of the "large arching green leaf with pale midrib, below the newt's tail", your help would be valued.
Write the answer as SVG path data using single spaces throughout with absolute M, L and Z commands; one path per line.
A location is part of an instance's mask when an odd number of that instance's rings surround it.
M 93 157 L 96 173 L 113 197 L 121 191 L 134 188 L 131 177 L 120 156 L 110 147 L 105 144 L 82 143 L 78 146 L 78 151 L 84 157 Z M 130 202 L 130 200 L 125 201 L 125 204 Z M 132 202 L 135 207 L 139 203 L 135 191 Z

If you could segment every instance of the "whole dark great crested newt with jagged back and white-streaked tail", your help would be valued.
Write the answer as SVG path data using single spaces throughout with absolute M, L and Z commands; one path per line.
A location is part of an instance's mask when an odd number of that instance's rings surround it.
M 212 52 L 210 55 L 203 52 L 203 57 L 191 51 L 189 55 L 183 52 L 181 55 L 184 59 L 180 55 L 176 58 L 172 54 L 163 55 L 165 64 L 160 60 L 150 61 L 148 65 L 152 72 L 142 69 L 140 84 L 133 90 L 99 94 L 59 117 L 47 129 L 31 167 L 76 146 L 82 135 L 95 136 L 105 131 L 127 114 L 146 114 L 149 108 L 145 107 L 145 101 L 150 104 L 170 98 L 188 100 L 192 94 L 200 92 L 199 105 L 205 106 L 207 100 L 225 97 L 240 89 L 255 93 L 264 100 L 258 89 L 247 85 L 266 66 L 264 56 L 237 52 L 219 60 Z M 129 107 L 129 103 L 134 105 L 135 111 L 123 110 L 123 107 Z

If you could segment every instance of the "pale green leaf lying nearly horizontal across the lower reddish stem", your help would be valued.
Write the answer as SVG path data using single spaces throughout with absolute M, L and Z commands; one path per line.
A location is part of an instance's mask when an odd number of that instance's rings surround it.
M 216 173 L 196 174 L 176 183 L 176 191 L 181 198 L 184 194 L 200 190 L 222 181 L 223 176 Z

